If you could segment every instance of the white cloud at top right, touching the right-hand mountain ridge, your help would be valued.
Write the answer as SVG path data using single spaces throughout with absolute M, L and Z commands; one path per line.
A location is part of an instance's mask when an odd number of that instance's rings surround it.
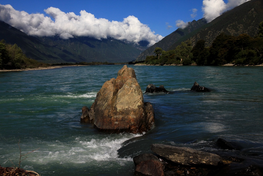
M 203 0 L 202 11 L 207 22 L 214 20 L 223 12 L 243 4 L 250 0 L 229 0 L 225 3 L 223 0 Z

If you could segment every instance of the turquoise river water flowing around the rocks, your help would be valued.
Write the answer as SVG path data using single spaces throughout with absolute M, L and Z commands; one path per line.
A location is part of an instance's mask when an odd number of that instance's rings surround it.
M 21 168 L 42 176 L 133 175 L 132 158 L 150 152 L 154 143 L 235 153 L 215 145 L 220 137 L 242 147 L 237 155 L 251 155 L 262 165 L 263 67 L 128 65 L 143 92 L 150 83 L 170 91 L 144 94 L 154 107 L 154 128 L 107 134 L 80 123 L 82 107 L 90 107 L 122 67 L 0 72 L 0 165 L 18 166 L 20 140 L 22 155 L 39 148 Z M 191 92 L 195 81 L 212 92 Z

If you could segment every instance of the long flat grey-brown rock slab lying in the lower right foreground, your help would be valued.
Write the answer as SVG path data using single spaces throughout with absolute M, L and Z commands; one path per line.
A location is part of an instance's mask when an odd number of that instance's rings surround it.
M 152 144 L 151 151 L 178 164 L 205 164 L 217 166 L 223 159 L 216 154 L 198 151 L 186 147 L 165 144 Z

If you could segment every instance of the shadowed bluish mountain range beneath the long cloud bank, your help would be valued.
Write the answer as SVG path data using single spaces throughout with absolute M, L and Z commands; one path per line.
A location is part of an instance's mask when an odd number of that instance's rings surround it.
M 27 57 L 46 63 L 65 62 L 109 62 L 121 63 L 135 60 L 147 47 L 124 41 L 94 39 L 90 37 L 74 37 L 68 40 L 54 37 L 28 36 L 22 31 L 0 21 L 0 40 L 17 44 Z

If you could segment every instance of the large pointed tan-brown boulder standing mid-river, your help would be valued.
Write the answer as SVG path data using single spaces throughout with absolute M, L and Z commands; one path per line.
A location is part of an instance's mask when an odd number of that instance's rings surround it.
M 84 108 L 82 113 L 82 122 L 93 123 L 105 132 L 141 133 L 150 130 L 154 123 L 153 107 L 144 103 L 135 72 L 126 65 L 116 79 L 103 84 L 90 110 Z

